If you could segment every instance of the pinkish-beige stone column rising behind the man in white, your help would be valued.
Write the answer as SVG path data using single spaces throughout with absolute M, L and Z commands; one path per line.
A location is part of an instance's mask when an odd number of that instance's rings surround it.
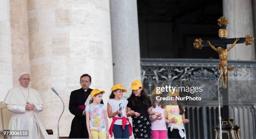
M 13 85 L 16 86 L 21 72 L 30 73 L 27 0 L 10 0 L 10 27 Z

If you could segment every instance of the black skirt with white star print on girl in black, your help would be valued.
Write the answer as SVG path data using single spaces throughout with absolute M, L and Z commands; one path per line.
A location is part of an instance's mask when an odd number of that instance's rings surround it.
M 148 116 L 133 117 L 133 135 L 135 139 L 151 139 L 151 122 Z

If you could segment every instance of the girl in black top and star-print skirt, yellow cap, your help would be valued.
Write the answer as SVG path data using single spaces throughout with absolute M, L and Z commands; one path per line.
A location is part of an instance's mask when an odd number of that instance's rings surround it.
M 159 112 L 152 112 L 152 105 L 149 97 L 144 92 L 142 84 L 139 80 L 135 80 L 131 84 L 132 94 L 129 97 L 127 110 L 133 110 L 133 114 L 127 114 L 133 118 L 133 135 L 134 138 L 151 139 L 151 122 L 149 116 L 156 115 L 160 117 Z

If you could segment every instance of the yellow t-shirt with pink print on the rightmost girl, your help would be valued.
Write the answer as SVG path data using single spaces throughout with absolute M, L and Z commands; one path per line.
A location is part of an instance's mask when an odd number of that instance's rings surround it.
M 179 126 L 183 124 L 182 115 L 179 114 L 178 105 L 166 105 L 165 111 L 167 112 L 167 119 L 172 119 L 173 117 L 177 119 L 177 123 L 175 125 Z

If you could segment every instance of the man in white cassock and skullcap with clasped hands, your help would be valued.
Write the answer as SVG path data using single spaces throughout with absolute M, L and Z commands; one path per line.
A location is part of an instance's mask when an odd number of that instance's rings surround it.
M 30 82 L 28 73 L 21 73 L 19 82 L 18 87 L 13 87 L 8 91 L 3 103 L 12 112 L 9 130 L 28 130 L 29 137 L 10 138 L 49 138 L 39 118 L 39 112 L 43 110 L 40 94 L 28 87 Z

